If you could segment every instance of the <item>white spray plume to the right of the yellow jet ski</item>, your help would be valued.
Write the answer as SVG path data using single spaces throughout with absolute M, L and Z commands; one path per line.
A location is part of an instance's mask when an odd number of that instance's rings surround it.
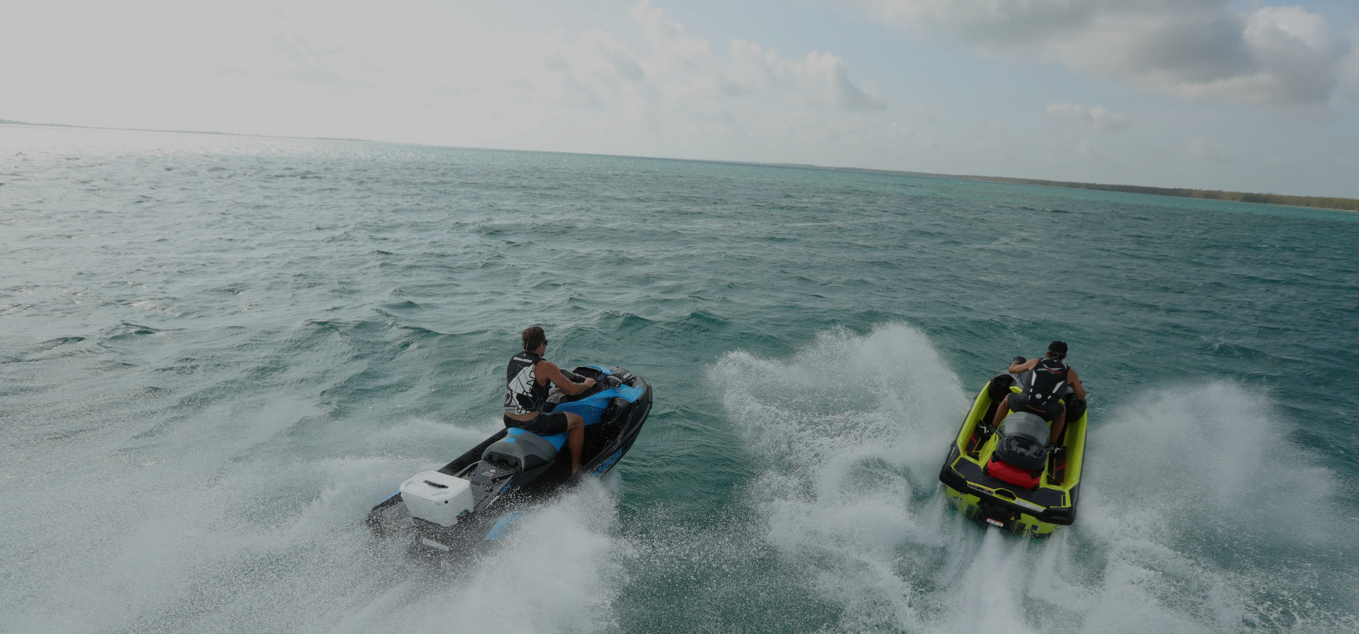
M 1272 399 L 1229 383 L 1133 395 L 1091 430 L 1076 534 L 1089 631 L 1344 631 L 1359 607 L 1333 475 Z M 1079 555 L 1080 553 L 1075 553 Z

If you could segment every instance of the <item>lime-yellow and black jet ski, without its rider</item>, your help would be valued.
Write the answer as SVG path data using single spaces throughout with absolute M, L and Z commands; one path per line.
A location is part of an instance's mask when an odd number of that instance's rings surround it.
M 1086 402 L 1067 387 L 1067 425 L 1053 449 L 1046 447 L 1051 425 L 1037 414 L 1012 411 L 999 429 L 992 429 L 1000 399 L 1022 392 L 1030 376 L 1002 372 L 981 388 L 949 445 L 939 481 L 968 517 L 1018 535 L 1046 538 L 1076 520 Z

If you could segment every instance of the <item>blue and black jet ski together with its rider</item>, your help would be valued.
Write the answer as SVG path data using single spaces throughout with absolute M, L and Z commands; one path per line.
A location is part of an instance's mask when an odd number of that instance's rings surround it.
M 375 535 L 405 536 L 420 555 L 474 550 L 503 538 L 552 493 L 603 475 L 632 448 L 651 413 L 651 384 L 622 368 L 560 371 L 542 360 L 545 345 L 542 329 L 529 329 L 531 356 L 510 362 L 506 429 L 406 479 L 368 512 Z M 557 387 L 540 383 L 538 372 Z M 511 415 L 512 407 L 522 411 Z

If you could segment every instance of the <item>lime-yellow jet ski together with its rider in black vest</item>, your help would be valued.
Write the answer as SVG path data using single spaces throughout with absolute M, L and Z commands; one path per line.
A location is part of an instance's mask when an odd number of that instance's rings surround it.
M 1046 358 L 1017 358 L 973 400 L 939 471 L 968 517 L 1030 536 L 1075 521 L 1087 421 L 1065 352 L 1053 342 Z

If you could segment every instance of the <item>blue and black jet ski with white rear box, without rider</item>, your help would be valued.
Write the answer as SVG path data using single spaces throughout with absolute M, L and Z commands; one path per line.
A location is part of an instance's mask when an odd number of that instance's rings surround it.
M 402 482 L 368 512 L 368 529 L 379 538 L 409 539 L 414 555 L 469 554 L 504 538 L 553 493 L 613 468 L 651 413 L 651 384 L 626 369 L 602 365 L 567 375 L 595 384 L 578 395 L 553 387 L 544 410 L 584 418 L 580 471 L 571 474 L 567 433 L 542 437 L 501 429 L 448 464 Z

